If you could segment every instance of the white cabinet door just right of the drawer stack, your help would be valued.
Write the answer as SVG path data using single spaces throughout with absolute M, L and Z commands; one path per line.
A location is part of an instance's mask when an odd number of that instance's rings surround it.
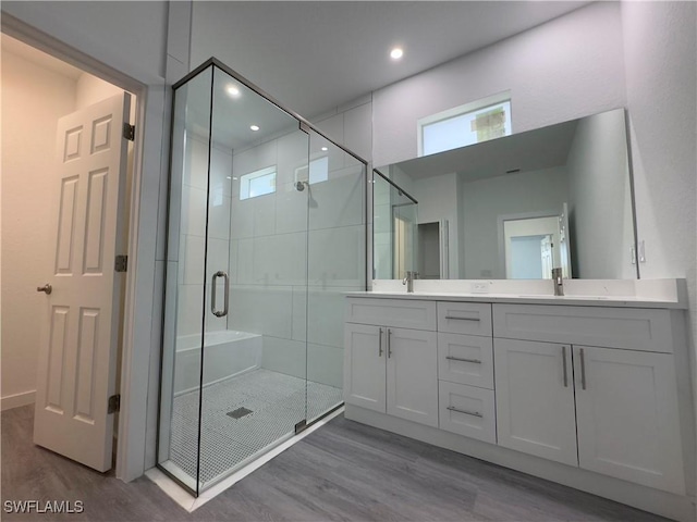
M 577 465 L 571 347 L 494 339 L 500 446 Z

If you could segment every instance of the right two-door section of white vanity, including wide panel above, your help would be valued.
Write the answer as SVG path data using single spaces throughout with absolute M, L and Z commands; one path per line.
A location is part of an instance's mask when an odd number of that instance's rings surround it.
M 640 350 L 494 337 L 499 445 L 684 494 L 674 360 L 664 352 L 672 347 L 670 330 L 641 327 L 670 324 L 669 312 L 661 318 L 659 310 L 568 307 L 565 311 L 575 312 L 580 324 L 565 315 L 567 333 L 561 334 L 545 320 L 557 312 L 547 310 L 550 307 L 501 307 L 504 310 L 494 304 L 494 316 L 517 314 L 512 323 L 527 337 L 594 336 L 633 346 L 622 335 L 623 323 L 632 322 Z M 588 321 L 598 328 L 587 331 Z M 497 326 L 494 335 L 501 333 Z M 655 352 L 648 351 L 651 343 Z

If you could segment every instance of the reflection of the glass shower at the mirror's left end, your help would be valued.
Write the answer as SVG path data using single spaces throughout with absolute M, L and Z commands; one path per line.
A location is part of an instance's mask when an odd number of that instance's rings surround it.
M 372 173 L 374 279 L 401 279 L 417 266 L 417 201 Z

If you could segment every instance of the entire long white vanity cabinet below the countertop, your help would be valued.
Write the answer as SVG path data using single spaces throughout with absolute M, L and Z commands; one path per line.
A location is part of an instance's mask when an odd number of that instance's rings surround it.
M 345 417 L 688 519 L 684 312 L 478 297 L 350 297 Z

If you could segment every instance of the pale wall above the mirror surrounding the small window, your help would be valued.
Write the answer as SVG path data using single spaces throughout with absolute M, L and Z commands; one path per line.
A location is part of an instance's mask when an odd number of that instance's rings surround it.
M 617 3 L 594 3 L 375 91 L 375 164 L 416 158 L 418 119 L 505 90 L 514 133 L 624 107 L 620 24 Z

